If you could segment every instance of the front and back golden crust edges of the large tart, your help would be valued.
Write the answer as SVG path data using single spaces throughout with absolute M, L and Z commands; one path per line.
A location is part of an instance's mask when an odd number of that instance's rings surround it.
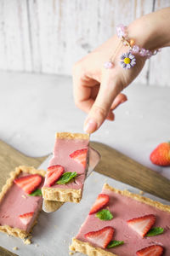
M 103 189 L 108 189 L 112 192 L 115 192 L 116 194 L 120 194 L 123 196 L 127 196 L 130 198 L 133 198 L 136 201 L 143 202 L 144 204 L 147 204 L 151 207 L 156 207 L 157 209 L 164 211 L 164 212 L 170 212 L 170 206 L 168 205 L 163 205 L 159 201 L 153 201 L 150 198 L 144 197 L 142 195 L 138 194 L 133 194 L 127 190 L 119 190 L 111 187 L 107 183 L 104 184 Z M 79 252 L 79 253 L 84 253 L 87 254 L 88 256 L 118 256 L 114 253 L 110 253 L 105 251 L 104 249 L 101 249 L 99 247 L 94 247 L 88 242 L 80 241 L 77 238 L 72 238 L 72 243 L 70 246 L 70 250 L 73 252 Z

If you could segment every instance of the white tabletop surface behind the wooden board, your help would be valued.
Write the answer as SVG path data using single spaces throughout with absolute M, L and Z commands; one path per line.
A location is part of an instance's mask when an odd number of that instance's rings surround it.
M 0 139 L 24 154 L 42 156 L 55 131 L 82 132 L 85 113 L 75 107 L 70 77 L 0 73 Z M 170 139 L 170 88 L 132 84 L 116 120 L 91 136 L 170 178 L 170 167 L 150 163 L 150 152 Z

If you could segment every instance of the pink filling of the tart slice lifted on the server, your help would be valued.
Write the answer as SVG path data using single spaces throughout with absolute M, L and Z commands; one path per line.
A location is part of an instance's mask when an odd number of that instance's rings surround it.
M 71 154 L 82 148 L 88 148 L 88 139 L 61 139 L 56 138 L 54 144 L 53 158 L 49 161 L 49 166 L 63 166 L 65 172 L 77 172 L 77 177 L 69 183 L 57 184 L 54 183 L 52 188 L 60 189 L 82 189 L 86 167 L 71 158 Z M 47 184 L 44 187 L 50 187 Z

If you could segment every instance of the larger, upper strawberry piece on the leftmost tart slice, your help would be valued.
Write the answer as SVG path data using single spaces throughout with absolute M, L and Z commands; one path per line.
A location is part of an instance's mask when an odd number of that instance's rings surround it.
M 31 194 L 42 183 L 42 176 L 31 174 L 14 179 L 14 183 L 23 189 L 27 194 Z

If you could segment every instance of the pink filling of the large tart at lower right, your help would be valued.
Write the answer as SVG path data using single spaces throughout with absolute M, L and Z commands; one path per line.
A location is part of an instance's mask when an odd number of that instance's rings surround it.
M 105 226 L 111 226 L 115 230 L 113 240 L 124 241 L 124 244 L 118 247 L 105 249 L 108 252 L 115 253 L 119 256 L 132 256 L 136 255 L 136 252 L 141 248 L 149 247 L 151 245 L 161 245 L 165 248 L 163 255 L 170 255 L 170 213 L 161 211 L 156 207 L 151 207 L 130 197 L 116 194 L 109 189 L 103 189 L 101 193 L 109 195 L 110 197 L 109 203 L 104 208 L 109 209 L 113 218 L 111 220 L 103 221 L 97 218 L 95 213 L 88 215 L 88 218 L 86 218 L 76 236 L 78 240 L 88 241 L 85 237 L 85 234 L 88 232 L 101 230 L 105 228 Z M 156 224 L 154 224 L 154 226 L 163 228 L 163 234 L 142 238 L 128 226 L 128 219 L 137 218 L 147 214 L 154 214 L 156 216 Z M 93 243 L 91 244 L 96 246 Z

